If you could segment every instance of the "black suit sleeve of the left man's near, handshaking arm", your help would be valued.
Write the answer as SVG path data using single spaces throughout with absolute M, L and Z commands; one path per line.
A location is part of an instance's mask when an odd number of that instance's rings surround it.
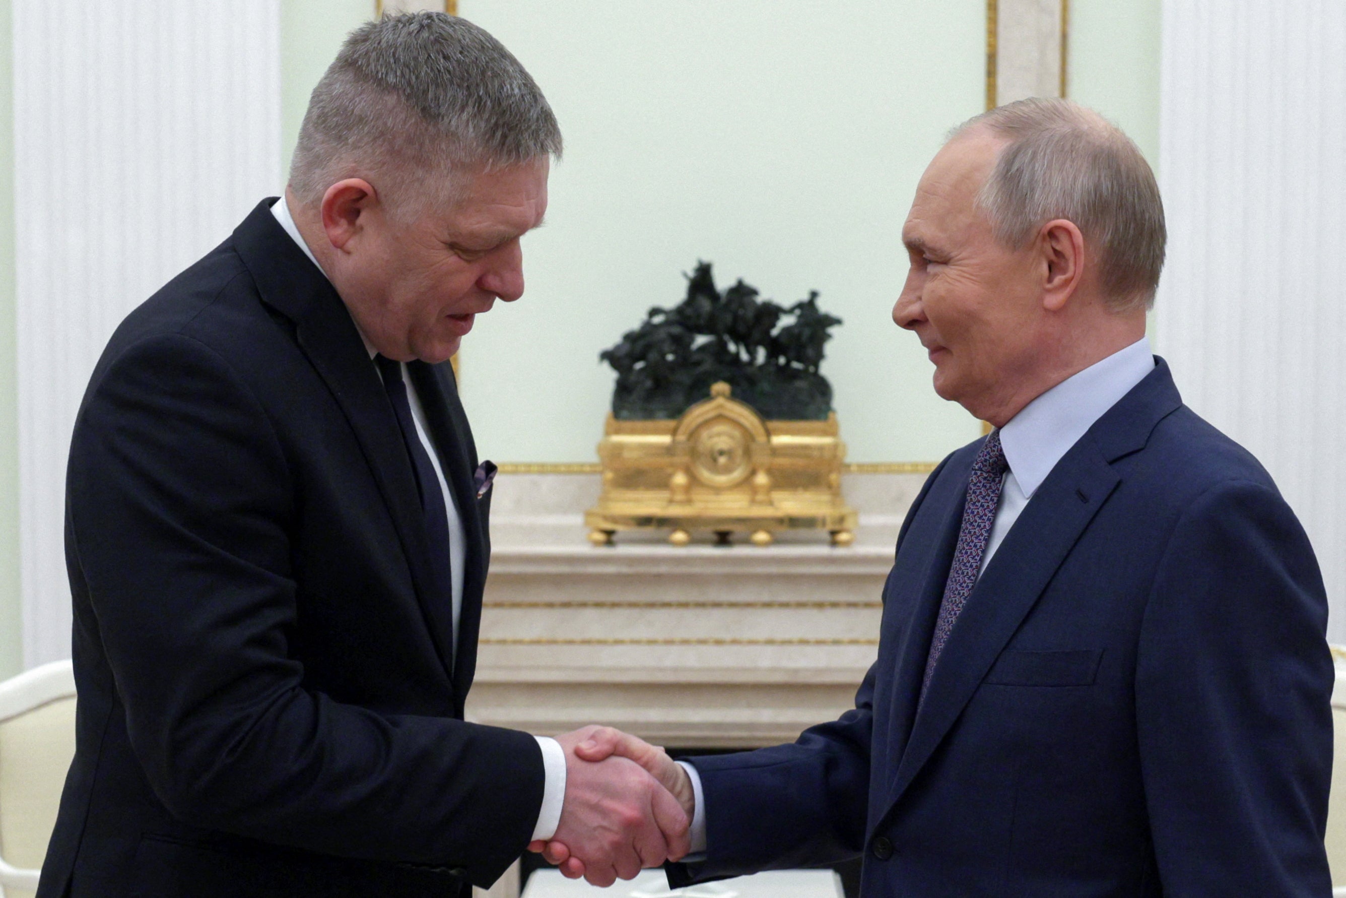
M 90 386 L 70 556 L 151 788 L 192 825 L 493 882 L 537 823 L 538 743 L 306 688 L 295 498 L 262 407 L 198 341 L 136 343 Z

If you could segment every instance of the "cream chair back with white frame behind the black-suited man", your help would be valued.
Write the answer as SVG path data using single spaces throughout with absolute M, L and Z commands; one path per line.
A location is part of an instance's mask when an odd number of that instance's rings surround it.
M 0 898 L 30 898 L 75 754 L 75 677 L 55 661 L 0 683 Z

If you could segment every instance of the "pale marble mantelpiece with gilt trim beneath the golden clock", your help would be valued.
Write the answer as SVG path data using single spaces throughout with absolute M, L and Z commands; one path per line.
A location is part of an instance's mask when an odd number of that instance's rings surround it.
M 586 540 L 595 474 L 502 474 L 468 715 L 556 734 L 610 723 L 661 745 L 752 747 L 851 707 L 878 648 L 896 532 L 923 474 L 851 474 L 856 543 L 677 548 Z

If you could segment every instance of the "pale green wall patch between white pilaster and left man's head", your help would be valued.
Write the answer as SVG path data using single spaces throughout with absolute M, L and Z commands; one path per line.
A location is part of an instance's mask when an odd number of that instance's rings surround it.
M 308 108 L 308 94 L 353 28 L 373 18 L 376 0 L 280 0 L 280 159 L 285 183 L 289 155 Z

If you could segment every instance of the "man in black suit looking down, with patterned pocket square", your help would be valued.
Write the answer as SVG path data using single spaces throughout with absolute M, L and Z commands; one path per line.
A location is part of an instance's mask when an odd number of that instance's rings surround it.
M 534 839 L 595 882 L 688 819 L 590 730 L 466 723 L 494 466 L 448 359 L 524 292 L 561 135 L 481 28 L 357 30 L 289 187 L 133 311 L 89 382 L 66 545 L 75 758 L 39 895 L 466 895 Z

